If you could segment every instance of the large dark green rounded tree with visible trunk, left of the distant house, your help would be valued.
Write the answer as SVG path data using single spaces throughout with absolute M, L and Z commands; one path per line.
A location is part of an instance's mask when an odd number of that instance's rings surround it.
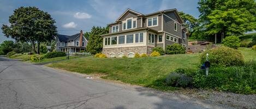
M 3 25 L 5 36 L 20 42 L 31 42 L 34 52 L 40 54 L 40 43 L 51 41 L 57 35 L 55 20 L 50 14 L 35 7 L 20 7 L 9 17 L 10 26 Z M 35 50 L 37 43 L 37 50 Z

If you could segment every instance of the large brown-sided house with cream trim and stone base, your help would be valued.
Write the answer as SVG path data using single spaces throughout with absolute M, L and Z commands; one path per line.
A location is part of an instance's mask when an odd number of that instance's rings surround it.
M 150 54 L 154 47 L 173 43 L 188 49 L 187 30 L 176 9 L 141 14 L 127 9 L 109 25 L 109 34 L 103 37 L 103 54 L 108 57 L 133 57 L 135 53 Z

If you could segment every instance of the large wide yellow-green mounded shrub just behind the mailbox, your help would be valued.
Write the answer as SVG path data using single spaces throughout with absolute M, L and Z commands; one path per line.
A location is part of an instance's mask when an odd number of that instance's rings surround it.
M 206 50 L 200 55 L 200 62 L 206 61 L 206 54 L 209 54 L 209 61 L 212 66 L 241 66 L 244 59 L 241 52 L 229 47 L 218 47 Z

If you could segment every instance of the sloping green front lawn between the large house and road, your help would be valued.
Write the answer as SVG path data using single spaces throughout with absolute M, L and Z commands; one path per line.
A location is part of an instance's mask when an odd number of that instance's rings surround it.
M 94 58 L 73 59 L 52 63 L 50 67 L 70 70 L 73 72 L 107 74 L 105 79 L 120 80 L 130 84 L 161 88 L 158 85 L 165 76 L 176 68 L 197 68 L 199 54 L 179 54 L 160 57 L 139 58 Z M 166 88 L 166 87 L 165 87 Z

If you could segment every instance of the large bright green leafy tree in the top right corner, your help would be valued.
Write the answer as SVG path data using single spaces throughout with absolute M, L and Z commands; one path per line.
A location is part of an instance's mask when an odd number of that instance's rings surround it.
M 256 29 L 254 0 L 201 0 L 201 31 L 206 35 L 242 35 Z

